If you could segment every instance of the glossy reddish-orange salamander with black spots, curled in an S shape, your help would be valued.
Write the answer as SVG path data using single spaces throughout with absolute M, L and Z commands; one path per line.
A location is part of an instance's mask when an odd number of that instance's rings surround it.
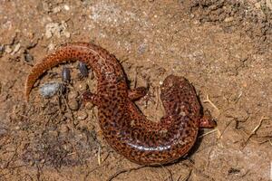
M 98 109 L 103 138 L 119 154 L 141 165 L 162 165 L 186 155 L 201 128 L 216 122 L 203 115 L 193 86 L 184 77 L 169 75 L 160 86 L 165 115 L 160 121 L 147 119 L 135 105 L 147 89 L 130 89 L 121 63 L 93 43 L 67 43 L 34 65 L 29 73 L 25 98 L 45 71 L 64 62 L 80 61 L 94 71 L 96 93 L 86 91 L 83 100 Z

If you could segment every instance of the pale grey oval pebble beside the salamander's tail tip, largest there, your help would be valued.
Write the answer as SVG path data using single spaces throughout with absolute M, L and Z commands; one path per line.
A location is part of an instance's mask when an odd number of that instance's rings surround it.
M 59 82 L 48 82 L 44 83 L 42 86 L 40 86 L 39 91 L 40 94 L 44 98 L 51 98 L 58 90 L 60 90 L 61 83 Z

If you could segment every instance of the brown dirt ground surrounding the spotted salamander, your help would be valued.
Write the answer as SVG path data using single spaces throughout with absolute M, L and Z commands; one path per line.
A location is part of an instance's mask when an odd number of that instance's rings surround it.
M 271 11 L 271 0 L 1 0 L 0 180 L 269 180 Z M 107 145 L 97 110 L 78 102 L 95 79 L 81 79 L 76 63 L 65 65 L 67 92 L 44 99 L 34 88 L 27 104 L 33 65 L 82 41 L 115 54 L 131 86 L 150 82 L 148 103 L 137 103 L 151 120 L 163 114 L 160 81 L 175 74 L 193 83 L 218 127 L 200 131 L 178 163 L 139 167 Z M 62 68 L 40 85 L 62 81 Z

